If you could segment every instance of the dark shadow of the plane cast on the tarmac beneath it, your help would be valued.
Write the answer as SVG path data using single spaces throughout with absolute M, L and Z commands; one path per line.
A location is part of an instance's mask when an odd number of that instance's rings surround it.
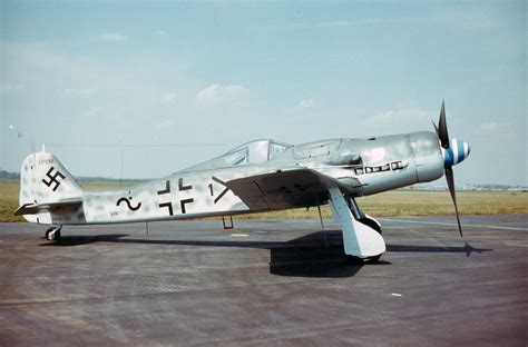
M 303 237 L 282 241 L 260 240 L 167 240 L 130 237 L 127 234 L 95 235 L 95 236 L 63 236 L 59 241 L 46 242 L 40 246 L 68 247 L 95 242 L 143 244 L 143 245 L 174 245 L 199 247 L 237 247 L 270 250 L 270 272 L 290 277 L 322 277 L 338 278 L 354 276 L 365 264 L 351 261 L 343 254 L 341 230 L 316 231 Z M 473 248 L 468 242 L 463 247 L 441 246 L 408 246 L 387 245 L 387 251 L 409 252 L 485 252 L 492 249 Z M 381 259 L 369 266 L 391 265 Z

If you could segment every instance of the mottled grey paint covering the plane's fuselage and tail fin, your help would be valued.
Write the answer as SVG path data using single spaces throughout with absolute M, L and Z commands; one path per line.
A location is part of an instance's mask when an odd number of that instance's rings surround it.
M 262 141 L 258 146 L 262 147 Z M 250 152 L 251 150 L 247 150 L 247 153 Z M 183 219 L 313 205 L 313 199 L 295 202 L 285 199 L 277 206 L 258 205 L 254 200 L 243 201 L 237 194 L 244 197 L 253 195 L 252 198 L 258 199 L 265 195 L 264 191 L 254 187 L 252 189 L 255 192 L 226 188 L 229 181 L 238 180 L 244 184 L 244 179 L 250 178 L 247 181 L 251 181 L 255 176 L 264 176 L 267 180 L 273 180 L 276 176 L 278 179 L 277 172 L 281 171 L 293 171 L 293 175 L 287 176 L 289 180 L 281 187 L 284 188 L 283 191 L 275 191 L 275 195 L 291 194 L 290 186 L 295 186 L 295 172 L 310 169 L 311 172 L 317 174 L 319 179 L 317 187 L 312 185 L 310 189 L 317 191 L 316 199 L 321 204 L 327 202 L 326 192 L 332 182 L 339 182 L 340 189 L 346 195 L 360 197 L 431 181 L 443 175 L 443 158 L 438 137 L 426 131 L 375 139 L 333 139 L 291 146 L 271 160 L 260 159 L 261 162 L 255 163 L 232 165 L 228 160 L 233 158 L 234 155 L 229 151 L 172 176 L 129 189 L 86 191 L 51 153 L 36 152 L 28 156 L 22 163 L 20 205 L 81 200 L 81 204 L 66 205 L 60 209 L 25 215 L 27 220 L 41 224 Z M 251 158 L 248 160 L 251 161 Z M 58 172 L 63 178 L 57 176 Z M 303 187 L 295 187 L 303 190 Z M 321 191 L 325 194 L 321 195 Z

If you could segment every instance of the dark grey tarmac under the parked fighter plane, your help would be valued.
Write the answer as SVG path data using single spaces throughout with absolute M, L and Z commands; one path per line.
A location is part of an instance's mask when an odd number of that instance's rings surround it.
M 528 215 L 379 220 L 374 265 L 331 220 L 0 224 L 0 346 L 527 346 Z

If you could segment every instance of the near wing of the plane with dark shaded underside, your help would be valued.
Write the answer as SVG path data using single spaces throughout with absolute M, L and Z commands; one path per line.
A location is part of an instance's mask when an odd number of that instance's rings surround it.
M 361 182 L 353 178 L 348 180 L 344 184 L 315 170 L 295 167 L 237 178 L 225 182 L 225 186 L 252 210 L 266 210 L 322 205 L 327 201 L 327 191 L 333 187 L 341 188 L 343 192 L 361 195 Z

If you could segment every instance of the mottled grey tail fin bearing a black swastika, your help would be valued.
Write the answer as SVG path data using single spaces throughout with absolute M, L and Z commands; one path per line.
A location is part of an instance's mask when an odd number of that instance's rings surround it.
M 23 215 L 28 221 L 38 221 L 36 216 L 28 215 L 49 211 L 50 206 L 80 204 L 82 188 L 62 163 L 42 148 L 22 163 L 19 200 L 16 214 Z

